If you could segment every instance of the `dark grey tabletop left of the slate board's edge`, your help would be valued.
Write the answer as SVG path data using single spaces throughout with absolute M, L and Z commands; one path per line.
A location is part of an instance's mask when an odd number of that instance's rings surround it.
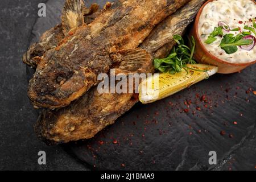
M 30 42 L 40 2 L 45 1 L 1 1 L 0 169 L 85 170 L 84 165 L 60 146 L 47 147 L 34 134 L 37 114 L 28 102 L 26 65 L 22 63 L 22 55 Z M 40 150 L 46 151 L 46 166 L 38 164 Z

